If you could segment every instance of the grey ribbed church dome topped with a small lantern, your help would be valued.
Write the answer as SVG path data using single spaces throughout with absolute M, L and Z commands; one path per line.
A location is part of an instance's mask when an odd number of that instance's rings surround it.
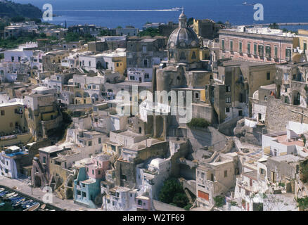
M 191 49 L 199 46 L 199 39 L 193 29 L 187 27 L 186 15 L 179 15 L 179 28 L 170 34 L 169 49 Z

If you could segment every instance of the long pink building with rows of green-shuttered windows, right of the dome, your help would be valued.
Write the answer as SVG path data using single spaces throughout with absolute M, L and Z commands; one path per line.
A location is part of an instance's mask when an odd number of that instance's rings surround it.
M 295 34 L 268 27 L 238 27 L 219 31 L 220 58 L 263 63 L 292 61 Z

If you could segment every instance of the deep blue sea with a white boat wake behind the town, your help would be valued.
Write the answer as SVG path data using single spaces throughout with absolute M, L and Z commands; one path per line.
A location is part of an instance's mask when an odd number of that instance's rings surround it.
M 262 23 L 308 22 L 307 0 L 13 0 L 33 4 L 43 10 L 44 4 L 53 8 L 56 25 L 95 24 L 115 28 L 132 25 L 141 29 L 147 22 L 177 22 L 183 7 L 187 18 L 229 21 L 232 25 Z M 243 4 L 246 2 L 246 4 Z M 254 20 L 253 4 L 262 4 L 264 20 Z M 284 27 L 281 27 L 284 28 Z M 308 29 L 308 26 L 287 26 L 288 30 Z

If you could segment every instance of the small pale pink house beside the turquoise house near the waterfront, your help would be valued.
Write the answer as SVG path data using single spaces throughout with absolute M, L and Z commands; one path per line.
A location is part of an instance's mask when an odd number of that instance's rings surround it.
M 105 172 L 110 169 L 110 156 L 98 155 L 92 162 L 86 164 L 86 173 L 93 179 L 103 179 Z

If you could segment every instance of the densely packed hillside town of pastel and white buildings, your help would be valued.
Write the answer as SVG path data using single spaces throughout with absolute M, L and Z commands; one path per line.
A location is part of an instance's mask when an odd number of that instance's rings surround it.
M 4 27 L 41 38 L 0 49 L 0 184 L 89 210 L 307 210 L 308 30 L 179 14 Z

